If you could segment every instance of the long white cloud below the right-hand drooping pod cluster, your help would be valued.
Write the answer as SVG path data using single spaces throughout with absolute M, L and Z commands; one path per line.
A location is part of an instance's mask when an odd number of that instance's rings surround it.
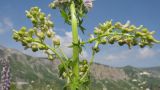
M 116 53 L 111 53 L 105 56 L 105 60 L 110 61 L 119 61 L 119 60 L 130 60 L 132 58 L 137 60 L 145 60 L 147 58 L 152 58 L 157 55 L 158 51 L 153 50 L 151 48 L 144 48 L 144 49 L 134 49 L 134 50 L 123 50 Z

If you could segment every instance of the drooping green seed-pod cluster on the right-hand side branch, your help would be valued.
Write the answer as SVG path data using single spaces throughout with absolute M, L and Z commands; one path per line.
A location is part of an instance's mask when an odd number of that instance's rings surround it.
M 89 42 L 96 41 L 98 44 L 114 44 L 118 42 L 120 46 L 127 44 L 129 48 L 131 46 L 139 45 L 141 48 L 145 46 L 152 46 L 154 43 L 159 43 L 153 37 L 154 31 L 150 32 L 142 25 L 136 27 L 130 25 L 129 22 L 121 24 L 116 22 L 112 24 L 112 20 L 100 24 L 94 30 L 94 35 L 91 35 Z M 98 49 L 98 47 L 94 48 Z

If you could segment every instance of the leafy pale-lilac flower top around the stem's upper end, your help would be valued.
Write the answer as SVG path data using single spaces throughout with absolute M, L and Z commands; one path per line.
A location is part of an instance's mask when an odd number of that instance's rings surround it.
M 54 0 L 52 3 L 49 4 L 49 6 L 52 9 L 58 8 L 65 22 L 71 24 L 71 12 L 70 7 L 68 6 L 70 6 L 72 2 L 74 2 L 75 4 L 78 26 L 83 32 L 85 30 L 85 28 L 82 26 L 83 17 L 93 7 L 93 0 Z

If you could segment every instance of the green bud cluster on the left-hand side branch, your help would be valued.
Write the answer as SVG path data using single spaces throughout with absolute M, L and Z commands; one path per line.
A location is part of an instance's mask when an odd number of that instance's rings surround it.
M 27 30 L 26 27 L 22 27 L 19 31 L 14 31 L 13 39 L 21 42 L 25 49 L 31 48 L 33 52 L 45 50 L 49 59 L 53 59 L 45 39 L 51 39 L 54 46 L 60 45 L 60 39 L 55 37 L 52 30 L 54 24 L 50 20 L 50 15 L 46 16 L 38 7 L 32 7 L 26 11 L 26 16 L 31 20 L 33 28 Z

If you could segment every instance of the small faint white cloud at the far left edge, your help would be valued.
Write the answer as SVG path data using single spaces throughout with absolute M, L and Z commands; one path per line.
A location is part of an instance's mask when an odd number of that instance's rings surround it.
M 11 30 L 13 28 L 13 23 L 9 18 L 3 18 L 0 21 L 0 34 Z

